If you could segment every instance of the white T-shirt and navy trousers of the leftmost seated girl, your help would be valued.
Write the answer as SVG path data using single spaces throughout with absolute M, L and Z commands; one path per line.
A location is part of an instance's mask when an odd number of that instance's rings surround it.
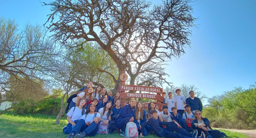
M 79 120 L 82 117 L 83 115 L 82 110 L 83 109 L 79 109 L 77 106 L 72 107 L 66 115 L 70 117 L 72 122 L 74 122 L 75 120 Z M 86 112 L 86 109 L 84 110 L 84 113 L 85 112 Z M 72 130 L 72 124 L 68 123 L 67 127 L 63 128 L 62 132 L 64 134 L 69 134 L 71 130 Z

